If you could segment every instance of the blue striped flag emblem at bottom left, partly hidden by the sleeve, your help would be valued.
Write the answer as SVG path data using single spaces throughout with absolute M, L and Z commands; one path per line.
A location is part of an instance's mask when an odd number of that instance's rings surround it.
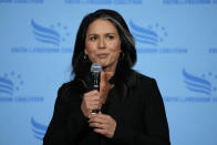
M 48 127 L 45 125 L 35 122 L 33 117 L 31 118 L 31 125 L 32 125 L 33 136 L 39 141 L 43 141 L 43 136 Z

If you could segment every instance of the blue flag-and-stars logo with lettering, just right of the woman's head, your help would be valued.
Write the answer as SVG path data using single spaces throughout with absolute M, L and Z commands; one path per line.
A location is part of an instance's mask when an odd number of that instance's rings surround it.
M 187 53 L 187 49 L 182 46 L 162 46 L 168 33 L 159 23 L 141 27 L 131 20 L 130 28 L 136 41 L 136 49 L 141 53 Z

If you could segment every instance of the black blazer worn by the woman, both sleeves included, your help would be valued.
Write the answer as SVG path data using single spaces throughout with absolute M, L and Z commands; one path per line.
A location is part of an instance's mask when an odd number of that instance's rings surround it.
M 116 121 L 113 138 L 94 133 L 82 114 L 82 81 L 63 84 L 43 145 L 169 145 L 168 124 L 162 95 L 154 79 L 135 74 L 136 83 L 125 97 L 116 85 L 110 91 L 102 113 Z

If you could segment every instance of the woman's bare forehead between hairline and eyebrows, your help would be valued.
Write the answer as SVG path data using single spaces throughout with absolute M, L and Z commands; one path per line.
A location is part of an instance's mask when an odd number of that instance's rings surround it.
M 117 29 L 108 20 L 96 19 L 89 25 L 86 33 L 117 33 Z

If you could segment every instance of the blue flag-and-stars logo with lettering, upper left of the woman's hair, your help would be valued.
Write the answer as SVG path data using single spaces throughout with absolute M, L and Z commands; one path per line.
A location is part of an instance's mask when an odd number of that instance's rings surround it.
M 12 53 L 73 53 L 68 27 L 61 22 L 56 24 L 42 25 L 33 19 L 30 21 L 32 38 L 38 42 L 33 48 L 13 46 Z M 70 44 L 72 45 L 72 44 Z

